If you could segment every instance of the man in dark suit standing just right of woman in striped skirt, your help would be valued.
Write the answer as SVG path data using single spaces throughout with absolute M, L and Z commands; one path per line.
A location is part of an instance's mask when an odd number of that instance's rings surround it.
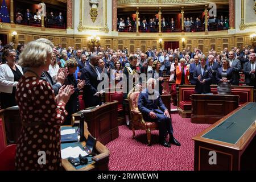
M 240 80 L 239 72 L 241 72 L 242 66 L 241 66 L 240 60 L 234 59 L 233 51 L 229 51 L 229 64 L 230 64 L 230 68 L 234 69 L 232 85 L 239 85 L 239 80 Z

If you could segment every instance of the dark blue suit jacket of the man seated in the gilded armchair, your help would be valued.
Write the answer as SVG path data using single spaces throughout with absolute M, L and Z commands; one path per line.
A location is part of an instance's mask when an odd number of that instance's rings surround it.
M 156 99 L 149 99 L 150 97 L 147 89 L 144 89 L 141 93 L 139 93 L 138 109 L 141 111 L 143 118 L 147 121 L 151 120 L 150 116 L 148 115 L 151 111 L 154 113 L 163 114 L 164 110 L 167 110 L 166 106 L 162 102 L 159 92 L 155 90 L 155 94 L 152 97 L 155 97 Z

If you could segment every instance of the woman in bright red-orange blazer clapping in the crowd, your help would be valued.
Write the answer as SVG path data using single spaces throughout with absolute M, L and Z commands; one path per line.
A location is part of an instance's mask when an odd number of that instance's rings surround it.
M 185 65 L 186 60 L 180 59 L 180 65 L 176 67 L 176 84 L 177 85 L 188 85 L 189 67 Z

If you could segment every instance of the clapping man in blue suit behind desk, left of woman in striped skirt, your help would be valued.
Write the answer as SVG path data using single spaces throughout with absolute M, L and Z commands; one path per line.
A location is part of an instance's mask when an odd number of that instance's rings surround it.
M 193 73 L 193 78 L 196 81 L 195 93 L 206 94 L 210 93 L 210 82 L 212 77 L 212 70 L 206 65 L 205 56 L 202 55 L 200 67 L 197 67 Z

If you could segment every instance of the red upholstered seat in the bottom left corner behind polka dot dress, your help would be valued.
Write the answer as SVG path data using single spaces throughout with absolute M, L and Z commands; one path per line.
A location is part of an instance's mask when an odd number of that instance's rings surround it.
M 16 155 L 16 144 L 7 146 L 0 153 L 0 171 L 14 171 L 15 170 L 15 155 Z

